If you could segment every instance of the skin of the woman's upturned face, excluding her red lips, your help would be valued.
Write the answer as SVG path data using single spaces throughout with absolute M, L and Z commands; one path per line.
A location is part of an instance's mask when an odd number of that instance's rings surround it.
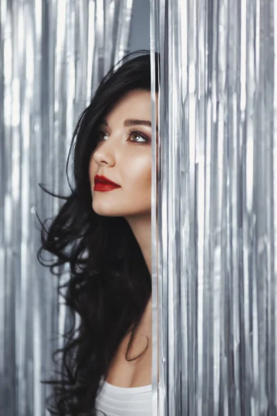
M 92 207 L 102 216 L 151 214 L 151 93 L 128 92 L 100 122 L 98 144 L 91 153 Z M 96 191 L 95 175 L 120 187 Z

